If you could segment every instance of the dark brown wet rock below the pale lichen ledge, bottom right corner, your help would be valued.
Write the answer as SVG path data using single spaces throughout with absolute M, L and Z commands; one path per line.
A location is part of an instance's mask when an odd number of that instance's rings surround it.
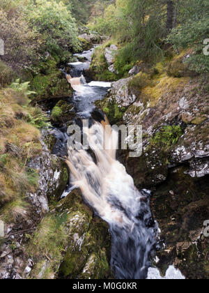
M 162 274 L 175 264 L 189 279 L 208 278 L 209 241 L 203 236 L 208 217 L 208 176 L 201 179 L 185 174 L 186 167 L 169 171 L 169 179 L 153 193 L 152 207 L 166 248 L 157 253 L 155 264 Z M 178 205 L 173 206 L 173 190 Z

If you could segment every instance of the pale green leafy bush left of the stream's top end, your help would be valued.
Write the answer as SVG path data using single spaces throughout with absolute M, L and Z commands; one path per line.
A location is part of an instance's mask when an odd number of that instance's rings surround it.
M 37 0 L 29 6 L 27 18 L 31 27 L 42 34 L 45 50 L 53 53 L 61 49 L 77 51 L 81 48 L 75 19 L 63 2 Z

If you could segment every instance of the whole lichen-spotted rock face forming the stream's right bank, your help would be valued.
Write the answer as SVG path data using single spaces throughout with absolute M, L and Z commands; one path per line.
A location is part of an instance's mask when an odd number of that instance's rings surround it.
M 186 278 L 209 278 L 203 236 L 209 215 L 208 81 L 181 76 L 168 76 L 158 64 L 153 73 L 114 82 L 100 105 L 110 121 L 114 113 L 111 123 L 143 126 L 142 155 L 118 155 L 136 186 L 153 190 L 153 213 L 166 246 L 155 266 L 165 273 L 175 264 Z

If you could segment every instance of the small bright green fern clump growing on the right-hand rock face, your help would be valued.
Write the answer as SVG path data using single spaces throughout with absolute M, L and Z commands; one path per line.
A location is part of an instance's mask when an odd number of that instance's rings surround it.
M 182 135 L 183 131 L 180 126 L 164 126 L 150 139 L 150 144 L 157 146 L 163 144 L 170 147 L 172 144 L 176 144 Z

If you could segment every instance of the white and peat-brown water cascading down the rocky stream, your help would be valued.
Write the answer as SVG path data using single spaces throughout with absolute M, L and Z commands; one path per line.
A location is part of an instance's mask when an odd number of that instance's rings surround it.
M 84 70 L 89 68 L 93 51 L 84 52 L 86 61 L 70 63 L 68 82 L 75 89 L 73 100 L 80 119 L 88 119 L 93 102 L 102 99 L 111 86 L 105 82 L 86 84 Z M 150 192 L 137 190 L 125 167 L 116 160 L 118 133 L 111 130 L 107 118 L 82 128 L 91 156 L 86 150 L 68 147 L 71 189 L 79 187 L 95 213 L 109 223 L 111 232 L 111 266 L 119 279 L 147 277 L 155 253 L 157 224 L 150 212 Z M 66 141 L 66 134 L 64 134 Z M 108 146 L 106 149 L 103 148 Z M 69 193 L 66 190 L 65 195 Z

